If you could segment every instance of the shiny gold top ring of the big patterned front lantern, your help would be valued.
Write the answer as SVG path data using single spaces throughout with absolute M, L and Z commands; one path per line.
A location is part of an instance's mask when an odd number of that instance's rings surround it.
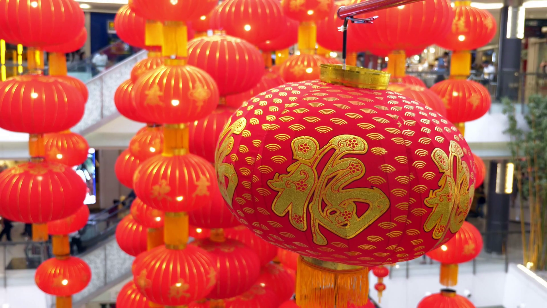
M 387 90 L 391 74 L 363 67 L 348 66 L 346 69 L 339 64 L 322 64 L 321 77 L 323 82 L 346 85 L 353 88 L 370 90 Z

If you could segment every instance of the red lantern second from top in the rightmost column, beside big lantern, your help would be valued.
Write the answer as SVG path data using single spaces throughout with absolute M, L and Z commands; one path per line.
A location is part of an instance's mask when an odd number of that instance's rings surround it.
M 448 79 L 435 83 L 431 90 L 443 100 L 446 118 L 452 123 L 476 120 L 484 116 L 492 104 L 490 92 L 474 81 Z

